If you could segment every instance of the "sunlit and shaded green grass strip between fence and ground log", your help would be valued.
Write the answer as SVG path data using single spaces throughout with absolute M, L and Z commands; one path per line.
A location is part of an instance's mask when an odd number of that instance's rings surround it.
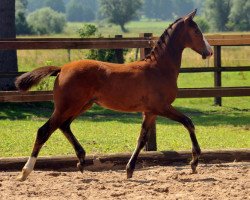
M 223 107 L 212 99 L 177 99 L 175 106 L 196 125 L 202 149 L 250 148 L 250 98 L 224 98 Z M 0 104 L 0 157 L 28 156 L 37 129 L 50 116 L 53 105 Z M 95 106 L 72 124 L 72 130 L 88 153 L 132 152 L 140 131 L 141 115 L 117 113 Z M 173 121 L 158 118 L 159 150 L 189 150 L 186 129 Z M 56 131 L 41 155 L 74 154 L 66 138 Z

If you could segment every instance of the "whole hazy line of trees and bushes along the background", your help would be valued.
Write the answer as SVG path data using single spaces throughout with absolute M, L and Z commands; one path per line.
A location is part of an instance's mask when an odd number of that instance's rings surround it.
M 172 21 L 199 8 L 203 31 L 250 30 L 250 0 L 16 0 L 18 34 L 60 33 L 66 22 Z

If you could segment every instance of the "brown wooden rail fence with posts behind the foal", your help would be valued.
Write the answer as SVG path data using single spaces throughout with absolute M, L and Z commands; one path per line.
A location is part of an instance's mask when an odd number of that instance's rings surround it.
M 250 46 L 250 35 L 209 35 L 206 36 L 210 45 L 214 46 L 214 67 L 182 68 L 181 73 L 214 73 L 214 87 L 210 88 L 181 88 L 179 98 L 215 97 L 215 104 L 221 105 L 221 97 L 250 96 L 250 86 L 221 87 L 222 72 L 250 71 L 250 66 L 228 67 L 221 65 L 221 48 L 223 46 Z M 31 50 L 31 49 L 124 49 L 139 48 L 140 57 L 144 58 L 155 45 L 157 37 L 151 33 L 140 34 L 138 38 L 22 38 L 0 39 L 0 50 Z M 16 77 L 23 72 L 2 72 L 0 78 Z M 52 101 L 51 91 L 27 92 L 1 91 L 0 102 L 35 102 Z M 146 150 L 156 150 L 156 129 L 152 127 L 150 143 Z

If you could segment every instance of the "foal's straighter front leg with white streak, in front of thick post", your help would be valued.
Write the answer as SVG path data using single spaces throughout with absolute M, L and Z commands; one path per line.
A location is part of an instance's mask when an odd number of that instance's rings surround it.
M 145 146 L 145 144 L 148 140 L 149 129 L 152 125 L 154 125 L 155 119 L 156 119 L 156 115 L 152 115 L 150 113 L 143 113 L 143 122 L 142 122 L 140 136 L 137 140 L 136 149 L 134 150 L 134 152 L 133 152 L 133 154 L 132 154 L 132 156 L 131 156 L 131 158 L 126 166 L 127 178 L 132 178 L 132 176 L 133 176 L 133 172 L 135 170 L 136 160 L 138 158 L 140 151 Z

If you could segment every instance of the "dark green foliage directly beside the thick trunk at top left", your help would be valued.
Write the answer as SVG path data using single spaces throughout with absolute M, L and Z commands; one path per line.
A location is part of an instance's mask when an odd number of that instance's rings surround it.
M 31 28 L 26 20 L 26 10 L 27 10 L 27 0 L 17 0 L 16 1 L 16 34 L 30 34 Z

